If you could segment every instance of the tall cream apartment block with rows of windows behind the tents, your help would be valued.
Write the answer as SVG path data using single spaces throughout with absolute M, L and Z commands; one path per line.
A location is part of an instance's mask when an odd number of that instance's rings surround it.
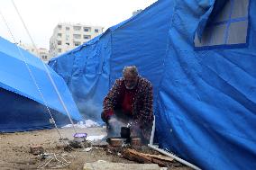
M 103 27 L 59 23 L 50 37 L 50 58 L 74 49 L 103 32 Z

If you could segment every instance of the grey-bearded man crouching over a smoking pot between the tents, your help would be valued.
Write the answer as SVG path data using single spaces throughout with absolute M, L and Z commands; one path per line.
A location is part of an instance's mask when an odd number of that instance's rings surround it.
M 131 124 L 133 136 L 142 138 L 148 143 L 151 137 L 152 85 L 139 76 L 135 66 L 124 67 L 123 77 L 115 80 L 112 89 L 105 96 L 102 119 L 107 125 L 108 137 L 113 136 L 114 130 L 119 132 L 120 126 Z

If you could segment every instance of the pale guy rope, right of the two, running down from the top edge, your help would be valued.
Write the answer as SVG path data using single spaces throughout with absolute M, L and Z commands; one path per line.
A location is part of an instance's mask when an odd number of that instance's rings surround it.
M 14 0 L 12 0 L 12 3 L 14 4 Z M 16 7 L 15 4 L 14 4 L 14 8 L 15 8 L 16 12 L 18 13 L 19 17 L 20 17 L 20 20 L 23 22 L 23 17 L 22 17 L 22 15 L 19 13 L 19 10 L 18 10 L 18 8 Z M 27 32 L 27 34 L 28 34 L 30 40 L 32 41 L 32 45 L 33 45 L 34 49 L 36 49 L 37 54 L 39 54 L 39 51 L 38 51 L 38 49 L 36 48 L 36 45 L 35 45 L 34 41 L 32 40 L 32 36 L 31 36 L 30 32 L 28 31 L 25 22 L 23 22 L 23 27 L 25 28 L 25 31 Z M 40 58 L 40 60 L 41 60 L 41 58 Z M 49 71 L 48 67 L 46 67 L 46 65 L 43 63 L 42 60 L 41 60 L 41 63 L 42 63 L 42 65 L 43 65 L 44 69 L 46 70 L 47 76 L 50 78 L 50 83 L 51 83 L 51 85 L 53 85 L 55 92 L 58 94 L 59 102 L 62 104 L 62 106 L 63 106 L 65 112 L 67 113 L 67 115 L 68 115 L 68 117 L 69 117 L 69 121 L 70 121 L 71 124 L 72 124 L 73 130 L 75 131 L 75 133 L 77 133 L 77 130 L 76 130 L 75 126 L 74 126 L 74 122 L 73 122 L 72 119 L 71 119 L 69 110 L 68 110 L 66 104 L 65 104 L 65 103 L 63 102 L 63 100 L 62 100 L 62 97 L 61 97 L 61 95 L 59 94 L 59 90 L 58 90 L 58 88 L 57 88 L 57 86 L 56 86 L 54 80 L 53 80 L 52 77 L 50 76 L 50 71 Z

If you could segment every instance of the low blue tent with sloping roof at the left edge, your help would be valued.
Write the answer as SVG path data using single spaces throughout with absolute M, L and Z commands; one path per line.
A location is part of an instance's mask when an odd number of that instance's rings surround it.
M 39 58 L 1 37 L 0 57 L 0 131 L 52 128 L 46 105 L 59 126 L 70 123 L 43 67 L 44 63 Z M 82 117 L 65 81 L 49 66 L 46 67 L 71 118 L 81 121 Z

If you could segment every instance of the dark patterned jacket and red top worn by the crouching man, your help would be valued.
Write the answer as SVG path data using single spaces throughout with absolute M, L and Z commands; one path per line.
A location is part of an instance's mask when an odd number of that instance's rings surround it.
M 139 76 L 138 84 L 133 90 L 126 89 L 123 78 L 114 82 L 113 87 L 105 96 L 105 118 L 113 115 L 115 109 L 127 110 L 130 107 L 129 104 L 131 104 L 131 114 L 134 121 L 138 121 L 142 126 L 151 125 L 153 120 L 152 85 L 142 76 Z

